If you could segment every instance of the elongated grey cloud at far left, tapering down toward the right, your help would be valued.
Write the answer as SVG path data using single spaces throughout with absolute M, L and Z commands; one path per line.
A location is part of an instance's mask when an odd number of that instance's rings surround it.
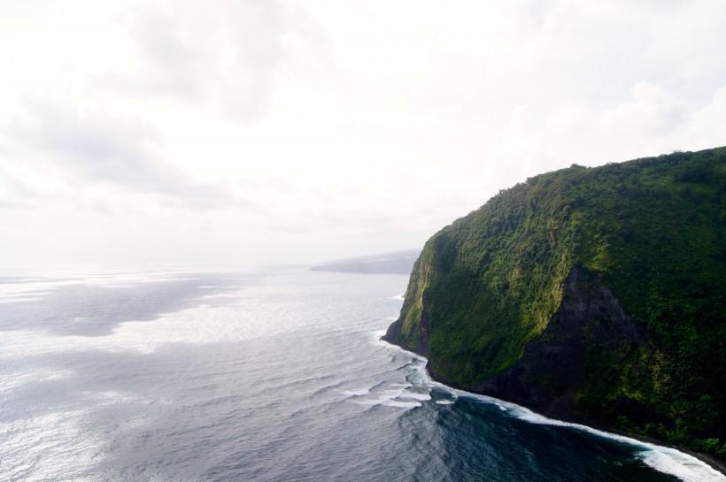
M 247 206 L 241 196 L 192 180 L 163 157 L 162 136 L 143 119 L 27 99 L 8 130 L 58 168 L 104 183 L 189 206 Z

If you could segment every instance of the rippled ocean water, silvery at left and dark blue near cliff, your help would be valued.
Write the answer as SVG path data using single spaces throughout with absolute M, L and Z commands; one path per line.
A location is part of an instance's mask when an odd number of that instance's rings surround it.
M 724 480 L 432 383 L 423 359 L 377 340 L 406 282 L 6 276 L 0 480 Z

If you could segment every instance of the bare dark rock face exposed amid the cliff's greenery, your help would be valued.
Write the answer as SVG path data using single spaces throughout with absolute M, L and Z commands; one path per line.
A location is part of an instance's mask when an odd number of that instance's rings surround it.
M 592 356 L 617 359 L 645 342 L 643 333 L 598 276 L 575 266 L 560 310 L 512 368 L 471 391 L 519 403 L 550 417 L 580 419 L 575 395 Z

